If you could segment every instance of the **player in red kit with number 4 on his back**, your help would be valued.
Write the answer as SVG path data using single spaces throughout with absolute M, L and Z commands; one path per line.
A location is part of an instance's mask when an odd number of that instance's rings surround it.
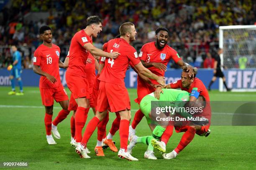
M 87 142 L 97 125 L 107 115 L 107 111 L 110 110 L 111 112 L 119 112 L 121 117 L 119 128 L 120 150 L 118 156 L 128 160 L 138 160 L 127 152 L 131 102 L 128 91 L 125 88 L 124 77 L 129 62 L 131 61 L 144 76 L 157 80 L 160 85 L 164 83 L 164 77 L 157 76 L 143 67 L 138 59 L 136 50 L 130 45 L 130 42 L 135 40 L 137 33 L 134 25 L 132 23 L 123 23 L 119 31 L 121 37 L 108 41 L 107 51 L 118 51 L 120 55 L 115 60 L 106 59 L 105 67 L 100 73 L 97 112 L 95 117 L 88 123 L 81 144 L 76 148 L 81 158 L 90 158 L 85 151 Z

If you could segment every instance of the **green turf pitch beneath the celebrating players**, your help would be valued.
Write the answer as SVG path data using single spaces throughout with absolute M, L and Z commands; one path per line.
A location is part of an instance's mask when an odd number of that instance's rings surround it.
M 61 139 L 57 145 L 47 145 L 44 128 L 44 107 L 42 106 L 38 87 L 25 87 L 24 96 L 8 96 L 10 87 L 0 87 L 0 162 L 28 162 L 28 169 L 97 169 L 97 170 L 145 170 L 145 169 L 254 169 L 256 168 L 256 126 L 211 126 L 209 137 L 195 136 L 194 140 L 174 160 L 164 160 L 156 152 L 158 160 L 143 158 L 146 145 L 138 144 L 133 150 L 133 156 L 138 162 L 119 159 L 117 153 L 105 150 L 104 158 L 97 158 L 93 153 L 96 144 L 94 133 L 89 140 L 88 148 L 91 159 L 81 159 L 74 152 L 70 142 L 70 116 L 58 125 Z M 67 90 L 69 91 L 69 90 Z M 138 109 L 133 102 L 136 98 L 136 89 L 129 89 L 132 106 L 132 117 Z M 210 92 L 211 100 L 256 101 L 256 93 Z M 8 107 L 6 105 L 16 105 Z M 17 107 L 18 105 L 18 107 Z M 23 107 L 20 107 L 23 106 Z M 26 108 L 24 106 L 30 106 Z M 60 110 L 55 104 L 54 117 Z M 88 120 L 93 114 L 90 111 Z M 107 130 L 110 129 L 115 114 L 110 114 Z M 151 132 L 143 119 L 137 127 L 137 135 L 150 135 Z M 167 145 L 167 152 L 172 151 L 182 136 L 174 133 Z M 119 132 L 114 140 L 119 147 Z M 0 165 L 0 168 L 3 167 Z M 27 169 L 27 168 L 26 168 Z

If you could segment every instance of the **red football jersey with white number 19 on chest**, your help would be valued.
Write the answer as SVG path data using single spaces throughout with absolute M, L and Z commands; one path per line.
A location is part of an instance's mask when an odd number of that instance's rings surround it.
M 40 77 L 40 88 L 54 88 L 61 85 L 59 76 L 59 54 L 60 48 L 57 45 L 52 44 L 52 47 L 47 47 L 44 44 L 34 52 L 34 65 L 40 66 L 43 72 L 48 73 L 56 78 L 55 83 L 51 83 L 45 76 Z

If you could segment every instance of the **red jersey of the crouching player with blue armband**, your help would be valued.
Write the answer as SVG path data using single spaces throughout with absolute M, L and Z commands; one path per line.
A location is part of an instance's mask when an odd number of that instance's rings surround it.
M 197 92 L 199 92 L 200 95 L 204 96 L 206 101 L 210 101 L 208 91 L 207 91 L 204 83 L 199 78 L 195 78 L 194 82 L 192 82 L 189 89 L 182 87 L 182 81 L 181 80 L 178 80 L 177 82 L 170 83 L 170 86 L 173 89 L 181 88 L 181 90 L 185 90 L 189 93 L 191 93 L 193 88 L 197 88 Z

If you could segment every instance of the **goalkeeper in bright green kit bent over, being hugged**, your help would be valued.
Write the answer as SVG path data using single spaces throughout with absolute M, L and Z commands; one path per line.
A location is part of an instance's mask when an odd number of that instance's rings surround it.
M 154 147 L 151 145 L 151 140 L 159 140 L 169 123 L 177 123 L 175 121 L 177 120 L 177 117 L 178 119 L 180 116 L 186 119 L 191 119 L 193 117 L 193 115 L 191 115 L 185 109 L 185 105 L 187 105 L 187 102 L 189 101 L 189 92 L 176 89 L 162 90 L 164 93 L 160 94 L 159 100 L 154 97 L 154 93 L 146 95 L 141 100 L 140 109 L 146 117 L 147 123 L 152 131 L 152 135 L 143 137 L 133 135 L 127 148 L 128 152 L 132 151 L 136 143 L 144 143 L 148 145 L 148 149 L 144 154 L 144 158 L 156 160 L 157 158 L 154 155 Z M 199 96 L 196 100 L 196 103 L 196 107 L 203 108 L 205 104 L 205 98 Z M 189 109 L 189 107 L 186 108 Z M 179 122 L 180 121 L 178 121 L 178 123 Z M 208 120 L 202 119 L 200 121 L 192 122 L 195 124 L 206 124 Z

